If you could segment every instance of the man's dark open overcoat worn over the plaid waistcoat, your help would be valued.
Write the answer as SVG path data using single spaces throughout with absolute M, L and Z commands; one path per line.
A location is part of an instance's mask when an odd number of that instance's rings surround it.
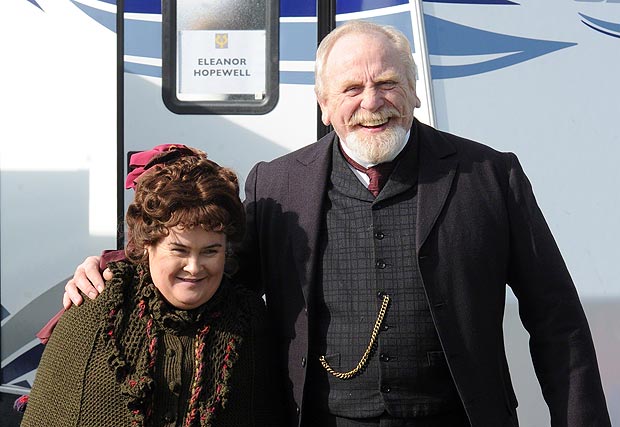
M 416 253 L 457 390 L 474 427 L 512 426 L 517 401 L 502 320 L 508 284 L 555 426 L 609 426 L 589 327 L 517 157 L 414 121 L 419 148 Z M 278 340 L 290 425 L 303 416 L 319 227 L 332 132 L 246 181 L 241 271 L 257 279 Z M 389 202 L 386 201 L 386 202 Z M 369 260 L 372 262 L 372 260 Z M 366 337 L 360 339 L 366 340 Z

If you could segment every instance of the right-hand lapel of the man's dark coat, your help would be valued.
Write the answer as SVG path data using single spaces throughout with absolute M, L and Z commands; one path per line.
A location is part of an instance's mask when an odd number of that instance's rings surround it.
M 446 203 L 458 160 L 456 149 L 439 131 L 416 120 L 413 132 L 420 147 L 416 230 L 419 253 Z

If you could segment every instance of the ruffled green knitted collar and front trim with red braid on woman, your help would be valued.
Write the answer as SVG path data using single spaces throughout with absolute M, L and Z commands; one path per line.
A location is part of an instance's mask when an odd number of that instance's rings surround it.
M 114 273 L 107 287 L 105 351 L 131 414 L 132 425 L 149 425 L 153 414 L 153 381 L 162 333 L 195 331 L 195 366 L 186 427 L 211 426 L 226 406 L 229 380 L 238 346 L 249 328 L 250 310 L 231 298 L 223 282 L 201 307 L 179 310 L 169 305 L 152 283 L 148 269 L 126 262 L 111 263 Z M 131 283 L 131 286 L 127 284 Z

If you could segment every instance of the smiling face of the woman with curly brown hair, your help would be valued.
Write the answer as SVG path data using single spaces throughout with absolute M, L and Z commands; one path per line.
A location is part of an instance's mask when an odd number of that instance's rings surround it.
M 173 227 L 147 251 L 153 284 L 176 308 L 199 307 L 220 286 L 226 258 L 224 233 Z

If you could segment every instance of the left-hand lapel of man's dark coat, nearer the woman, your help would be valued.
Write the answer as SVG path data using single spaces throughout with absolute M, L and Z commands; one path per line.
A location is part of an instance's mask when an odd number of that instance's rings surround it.
M 297 164 L 289 172 L 289 206 L 292 212 L 299 215 L 297 230 L 305 234 L 292 233 L 290 245 L 306 303 L 309 301 L 310 285 L 315 280 L 320 252 L 319 233 L 334 136 L 331 132 L 316 143 L 315 149 L 300 152 L 295 159 Z

